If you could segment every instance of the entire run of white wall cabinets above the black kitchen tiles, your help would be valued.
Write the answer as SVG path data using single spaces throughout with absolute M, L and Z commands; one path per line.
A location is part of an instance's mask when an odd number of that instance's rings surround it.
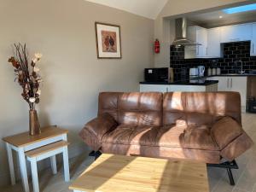
M 189 26 L 188 38 L 197 44 L 185 46 L 185 59 L 221 57 L 222 43 L 251 41 L 251 55 L 256 55 L 256 23 L 206 29 Z

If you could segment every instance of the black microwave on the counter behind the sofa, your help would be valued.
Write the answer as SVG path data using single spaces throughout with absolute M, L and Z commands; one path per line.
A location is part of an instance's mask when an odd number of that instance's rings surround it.
M 170 78 L 170 68 L 145 68 L 144 79 L 146 82 L 168 82 Z

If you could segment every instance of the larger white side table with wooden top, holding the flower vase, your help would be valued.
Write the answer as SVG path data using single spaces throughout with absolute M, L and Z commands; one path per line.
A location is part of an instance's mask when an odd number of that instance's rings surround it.
M 8 154 L 11 184 L 15 185 L 15 168 L 12 150 L 16 151 L 19 155 L 20 173 L 23 188 L 25 192 L 29 192 L 26 171 L 26 151 L 40 148 L 42 146 L 58 141 L 67 142 L 67 132 L 67 130 L 58 128 L 56 126 L 47 126 L 42 128 L 41 134 L 37 136 L 30 136 L 29 132 L 26 131 L 15 136 L 4 137 L 3 142 L 6 144 Z

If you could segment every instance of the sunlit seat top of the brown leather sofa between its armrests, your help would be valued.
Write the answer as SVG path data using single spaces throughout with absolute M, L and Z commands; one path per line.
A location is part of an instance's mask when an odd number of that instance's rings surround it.
M 114 131 L 109 132 L 102 138 L 102 143 L 219 150 L 207 126 L 119 125 Z

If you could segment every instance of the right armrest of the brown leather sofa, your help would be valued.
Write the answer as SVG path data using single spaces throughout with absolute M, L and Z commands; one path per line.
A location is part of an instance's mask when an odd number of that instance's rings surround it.
M 241 125 L 230 117 L 218 120 L 212 126 L 211 132 L 221 156 L 226 160 L 235 160 L 253 145 L 252 139 L 242 130 Z

